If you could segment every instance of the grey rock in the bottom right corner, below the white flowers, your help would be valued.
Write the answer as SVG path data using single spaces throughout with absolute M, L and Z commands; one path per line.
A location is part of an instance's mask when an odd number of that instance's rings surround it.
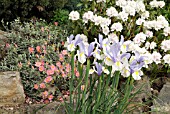
M 161 89 L 152 106 L 152 111 L 155 111 L 152 114 L 157 114 L 157 112 L 170 114 L 170 82 L 167 82 Z

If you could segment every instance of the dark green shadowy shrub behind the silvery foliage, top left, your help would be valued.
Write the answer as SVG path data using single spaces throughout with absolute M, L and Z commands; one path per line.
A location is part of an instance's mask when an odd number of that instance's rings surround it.
M 68 0 L 1 0 L 0 20 L 11 22 L 20 17 L 21 21 L 33 16 L 51 21 L 56 9 L 61 9 Z

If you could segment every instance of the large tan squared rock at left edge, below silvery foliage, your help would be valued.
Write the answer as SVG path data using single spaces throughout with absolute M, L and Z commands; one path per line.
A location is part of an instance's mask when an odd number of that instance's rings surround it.
M 0 72 L 0 106 L 23 104 L 25 94 L 20 80 L 20 73 Z

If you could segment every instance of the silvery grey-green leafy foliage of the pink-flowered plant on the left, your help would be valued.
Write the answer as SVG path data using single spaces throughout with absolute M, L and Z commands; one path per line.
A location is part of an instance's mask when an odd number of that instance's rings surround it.
M 7 55 L 0 61 L 0 71 L 17 70 L 21 72 L 22 83 L 26 95 L 36 97 L 34 84 L 42 81 L 46 75 L 35 70 L 35 62 L 43 60 L 55 64 L 61 42 L 67 37 L 67 31 L 55 25 L 48 25 L 44 21 L 25 22 L 19 20 L 11 23 L 7 35 Z M 44 50 L 41 55 L 36 47 Z M 31 53 L 29 48 L 34 48 Z M 58 51 L 57 51 L 58 50 Z

